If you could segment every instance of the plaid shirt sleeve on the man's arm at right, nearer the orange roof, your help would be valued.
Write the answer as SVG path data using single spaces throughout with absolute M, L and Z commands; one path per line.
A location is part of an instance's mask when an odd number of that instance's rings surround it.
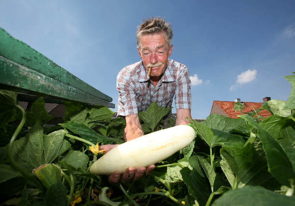
M 184 66 L 177 76 L 177 86 L 175 91 L 176 109 L 191 109 L 191 81 L 189 71 Z

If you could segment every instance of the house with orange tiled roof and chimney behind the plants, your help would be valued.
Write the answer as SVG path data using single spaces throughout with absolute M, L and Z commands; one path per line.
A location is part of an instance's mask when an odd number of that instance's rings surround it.
M 270 97 L 263 98 L 263 102 L 267 102 L 270 100 Z M 236 111 L 234 109 L 234 105 L 236 102 L 240 102 L 240 99 L 236 99 L 233 102 L 229 101 L 217 101 L 214 100 L 210 114 L 216 113 L 220 115 L 224 115 L 226 117 L 230 117 L 232 119 L 239 118 L 238 115 L 241 115 L 241 112 Z M 259 109 L 262 107 L 262 103 L 251 103 L 251 102 L 241 102 L 244 104 L 244 108 L 242 109 L 242 113 L 252 112 L 254 109 Z M 253 109 L 254 107 L 254 109 Z M 266 109 L 259 112 L 259 115 L 262 117 L 269 117 L 271 114 Z

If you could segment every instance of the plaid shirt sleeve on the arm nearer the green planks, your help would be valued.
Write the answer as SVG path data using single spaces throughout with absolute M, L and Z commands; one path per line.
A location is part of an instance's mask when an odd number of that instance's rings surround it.
M 117 76 L 118 113 L 117 116 L 137 114 L 137 103 L 134 93 L 135 85 L 126 70 L 121 70 Z

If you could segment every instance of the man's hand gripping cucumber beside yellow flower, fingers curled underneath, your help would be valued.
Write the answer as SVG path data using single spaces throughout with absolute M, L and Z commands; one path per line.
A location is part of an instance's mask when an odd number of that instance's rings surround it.
M 99 147 L 99 150 L 105 150 L 103 154 L 106 154 L 111 149 L 117 147 L 118 145 L 102 145 Z M 129 181 L 137 181 L 141 179 L 143 176 L 148 175 L 153 169 L 155 168 L 155 165 L 150 165 L 147 168 L 145 167 L 139 167 L 136 170 L 133 167 L 129 167 L 125 170 L 125 172 L 122 174 L 119 172 L 114 172 L 109 176 L 109 182 L 116 183 L 120 180 L 123 183 L 129 182 Z

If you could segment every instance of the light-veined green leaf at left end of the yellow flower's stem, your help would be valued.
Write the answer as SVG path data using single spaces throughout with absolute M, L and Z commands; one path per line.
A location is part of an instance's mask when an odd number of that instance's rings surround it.
M 60 154 L 71 147 L 64 139 L 65 131 L 60 129 L 44 136 L 44 163 L 53 162 Z

